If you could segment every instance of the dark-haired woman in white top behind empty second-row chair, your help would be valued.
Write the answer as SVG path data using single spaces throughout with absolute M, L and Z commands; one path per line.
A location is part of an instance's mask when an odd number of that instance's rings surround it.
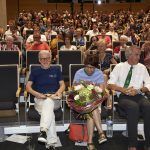
M 65 34 L 64 45 L 60 47 L 60 50 L 77 50 L 75 45 L 71 45 L 72 37 L 69 34 Z

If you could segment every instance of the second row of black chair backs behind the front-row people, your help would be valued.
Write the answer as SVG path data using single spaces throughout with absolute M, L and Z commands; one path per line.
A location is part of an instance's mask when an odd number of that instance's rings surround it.
M 30 64 L 38 64 L 38 50 L 26 51 L 26 68 L 29 68 Z M 113 53 L 112 50 L 107 50 L 106 53 Z M 18 51 L 0 51 L 0 65 L 2 64 L 18 64 L 21 66 L 21 56 Z M 121 51 L 120 62 L 126 61 L 125 51 Z M 66 65 L 69 64 L 81 64 L 83 62 L 82 52 L 79 50 L 76 51 L 58 51 L 58 64 L 62 64 L 63 72 L 66 72 Z M 140 62 L 144 62 L 144 51 L 141 51 Z M 68 68 L 67 68 L 68 69 Z

